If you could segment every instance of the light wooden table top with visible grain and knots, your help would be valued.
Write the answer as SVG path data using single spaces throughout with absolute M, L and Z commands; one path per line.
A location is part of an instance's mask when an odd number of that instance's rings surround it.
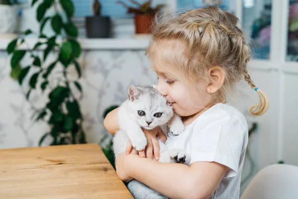
M 133 199 L 97 144 L 0 150 L 0 199 Z

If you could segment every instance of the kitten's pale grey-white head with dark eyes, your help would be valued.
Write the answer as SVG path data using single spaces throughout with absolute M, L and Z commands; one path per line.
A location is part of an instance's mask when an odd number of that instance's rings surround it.
M 134 121 L 146 129 L 167 123 L 173 109 L 166 99 L 153 87 L 128 88 L 129 110 Z

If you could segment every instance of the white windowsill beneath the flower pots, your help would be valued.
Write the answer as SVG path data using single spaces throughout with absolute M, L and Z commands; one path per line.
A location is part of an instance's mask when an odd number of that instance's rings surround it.
M 6 50 L 13 38 L 0 38 L 0 51 Z M 149 45 L 149 38 L 78 38 L 82 50 L 144 50 Z M 33 48 L 37 39 L 27 38 L 27 47 Z M 21 49 L 24 48 L 21 46 Z

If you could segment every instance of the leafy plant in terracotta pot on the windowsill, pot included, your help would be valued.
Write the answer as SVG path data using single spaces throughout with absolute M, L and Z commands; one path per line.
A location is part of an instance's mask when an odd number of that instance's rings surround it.
M 136 0 L 129 0 L 133 5 L 130 6 L 124 1 L 117 1 L 127 8 L 127 13 L 134 13 L 135 32 L 136 34 L 149 34 L 152 31 L 153 20 L 157 11 L 164 7 L 164 4 L 158 4 L 151 7 L 151 1 L 148 0 L 144 3 L 139 3 Z

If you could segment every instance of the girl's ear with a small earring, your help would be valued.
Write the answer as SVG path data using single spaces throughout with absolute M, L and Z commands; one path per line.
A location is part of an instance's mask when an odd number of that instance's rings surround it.
M 208 75 L 211 78 L 211 82 L 207 86 L 207 91 L 213 94 L 223 86 L 225 73 L 221 67 L 216 66 L 208 71 Z

